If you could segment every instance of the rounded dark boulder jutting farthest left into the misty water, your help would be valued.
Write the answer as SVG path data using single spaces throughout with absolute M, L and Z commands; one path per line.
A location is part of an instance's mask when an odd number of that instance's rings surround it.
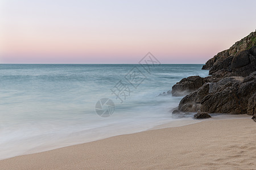
M 188 78 L 183 78 L 180 82 L 177 82 L 172 86 L 173 96 L 184 96 L 193 91 L 196 91 L 199 87 L 203 86 L 205 83 L 204 78 L 200 76 L 189 76 Z

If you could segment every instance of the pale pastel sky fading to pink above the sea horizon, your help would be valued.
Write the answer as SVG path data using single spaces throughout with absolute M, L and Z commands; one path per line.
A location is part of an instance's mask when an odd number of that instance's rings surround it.
M 0 63 L 205 63 L 256 29 L 256 1 L 0 0 Z

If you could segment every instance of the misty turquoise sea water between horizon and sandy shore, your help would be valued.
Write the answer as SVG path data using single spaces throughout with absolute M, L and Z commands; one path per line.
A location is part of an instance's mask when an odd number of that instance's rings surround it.
M 170 111 L 182 97 L 159 94 L 184 77 L 207 76 L 201 67 L 160 65 L 148 73 L 141 65 L 0 64 L 0 159 L 174 121 Z M 137 81 L 134 70 L 141 71 Z M 121 87 L 122 100 L 111 91 Z M 96 113 L 104 97 L 115 104 L 109 117 Z

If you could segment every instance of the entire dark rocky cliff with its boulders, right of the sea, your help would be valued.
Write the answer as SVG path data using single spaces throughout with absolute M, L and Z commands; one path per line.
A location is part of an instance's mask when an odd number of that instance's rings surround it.
M 190 76 L 172 87 L 172 95 L 188 95 L 179 112 L 256 114 L 256 32 L 209 59 L 203 69 L 210 76 Z M 177 112 L 177 111 L 176 111 Z M 256 121 L 256 118 L 255 118 Z

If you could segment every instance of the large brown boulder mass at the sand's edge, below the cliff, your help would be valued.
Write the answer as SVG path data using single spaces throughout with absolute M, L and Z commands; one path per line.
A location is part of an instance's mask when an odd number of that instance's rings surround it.
M 256 71 L 246 78 L 231 76 L 216 83 L 205 83 L 183 97 L 182 112 L 250 114 L 255 113 Z

